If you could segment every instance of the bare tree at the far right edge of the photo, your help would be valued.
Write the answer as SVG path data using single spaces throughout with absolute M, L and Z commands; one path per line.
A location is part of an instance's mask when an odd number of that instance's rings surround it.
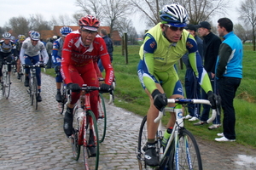
M 241 2 L 239 19 L 244 20 L 245 23 L 252 26 L 253 33 L 253 51 L 255 51 L 255 26 L 256 26 L 256 2 L 255 0 L 246 0 Z

